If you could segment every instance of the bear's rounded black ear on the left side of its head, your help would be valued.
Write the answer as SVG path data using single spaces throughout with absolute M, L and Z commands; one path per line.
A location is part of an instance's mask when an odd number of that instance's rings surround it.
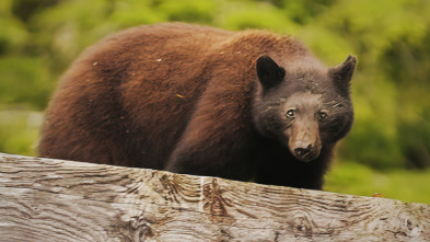
M 256 64 L 258 80 L 265 89 L 274 88 L 286 77 L 286 70 L 268 56 L 260 56 Z

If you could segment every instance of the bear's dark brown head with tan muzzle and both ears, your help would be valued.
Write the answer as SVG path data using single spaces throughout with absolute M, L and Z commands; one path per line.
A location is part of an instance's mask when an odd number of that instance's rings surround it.
M 288 147 L 300 161 L 316 159 L 324 146 L 336 143 L 351 128 L 349 85 L 356 62 L 348 56 L 327 69 L 312 59 L 278 65 L 260 56 L 253 102 L 256 129 Z

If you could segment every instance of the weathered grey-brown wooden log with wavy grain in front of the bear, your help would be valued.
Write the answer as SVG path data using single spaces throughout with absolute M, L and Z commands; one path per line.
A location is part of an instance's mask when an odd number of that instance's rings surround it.
M 0 153 L 1 241 L 430 241 L 430 205 Z

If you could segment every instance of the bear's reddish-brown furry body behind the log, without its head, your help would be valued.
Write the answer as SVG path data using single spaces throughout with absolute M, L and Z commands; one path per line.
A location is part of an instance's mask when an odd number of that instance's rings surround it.
M 327 71 L 297 41 L 266 31 L 175 23 L 103 39 L 62 77 L 39 154 L 321 188 L 334 142 L 307 164 L 255 126 L 262 55 L 287 73 L 294 66 Z

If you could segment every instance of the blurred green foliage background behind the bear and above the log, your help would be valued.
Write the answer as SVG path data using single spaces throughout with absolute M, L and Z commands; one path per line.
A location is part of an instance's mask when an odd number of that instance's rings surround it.
M 359 59 L 356 122 L 326 191 L 430 204 L 428 0 L 1 0 L 0 152 L 36 155 L 58 78 L 119 30 L 183 21 L 290 34 L 327 66 Z

